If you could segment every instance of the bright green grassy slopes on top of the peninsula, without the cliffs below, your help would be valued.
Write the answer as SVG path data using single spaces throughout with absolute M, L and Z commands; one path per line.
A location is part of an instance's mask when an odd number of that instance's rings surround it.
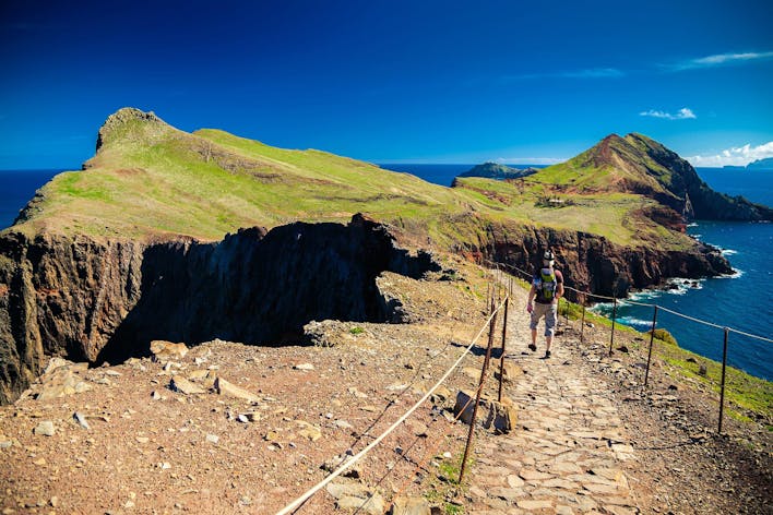
M 520 182 L 463 178 L 450 189 L 320 151 L 276 148 L 212 129 L 187 133 L 126 108 L 99 130 L 85 169 L 46 184 L 13 230 L 215 240 L 239 227 L 345 221 L 364 213 L 406 239 L 445 247 L 476 241 L 491 223 L 582 230 L 625 245 L 655 239 L 664 248 L 692 245 L 647 216 L 654 200 L 610 192 L 605 184 L 628 178 L 628 168 L 602 163 L 592 151 Z

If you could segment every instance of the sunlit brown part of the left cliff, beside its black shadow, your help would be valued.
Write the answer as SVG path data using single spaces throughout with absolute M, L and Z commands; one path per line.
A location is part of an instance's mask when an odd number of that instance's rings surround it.
M 21 233 L 0 238 L 0 403 L 44 355 L 93 360 L 140 297 L 143 247 Z

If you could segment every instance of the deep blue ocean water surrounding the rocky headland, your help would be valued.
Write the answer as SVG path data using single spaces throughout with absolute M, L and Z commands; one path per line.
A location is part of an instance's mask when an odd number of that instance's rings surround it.
M 383 168 L 413 173 L 426 181 L 450 185 L 453 178 L 474 165 L 382 165 Z M 511 165 L 513 166 L 513 165 Z M 514 165 L 525 168 L 528 165 Z M 0 170 L 0 227 L 13 223 L 19 211 L 60 170 Z M 752 202 L 773 205 L 773 171 L 698 168 L 698 175 L 713 189 L 729 195 L 744 195 Z M 689 232 L 701 241 L 723 249 L 736 271 L 729 277 L 692 282 L 675 280 L 676 289 L 637 292 L 631 300 L 657 303 L 679 313 L 765 338 L 773 337 L 773 224 L 702 221 Z M 610 315 L 609 304 L 596 311 Z M 650 328 L 653 309 L 633 304 L 618 306 L 617 321 L 643 331 Z M 668 330 L 679 346 L 714 360 L 722 360 L 724 332 L 690 322 L 664 311 L 657 326 Z M 773 381 L 773 344 L 730 333 L 728 363 Z

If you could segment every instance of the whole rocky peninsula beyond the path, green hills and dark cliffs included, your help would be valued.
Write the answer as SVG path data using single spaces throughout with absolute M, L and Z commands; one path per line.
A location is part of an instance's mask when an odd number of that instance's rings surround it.
M 374 277 L 437 270 L 432 253 L 528 270 L 551 248 L 569 286 L 622 297 L 730 272 L 681 232 L 691 217 L 771 218 L 637 134 L 516 181 L 448 189 L 127 108 L 83 168 L 41 188 L 0 233 L 1 403 L 48 356 L 98 364 L 151 339 L 275 345 L 310 320 L 399 318 Z

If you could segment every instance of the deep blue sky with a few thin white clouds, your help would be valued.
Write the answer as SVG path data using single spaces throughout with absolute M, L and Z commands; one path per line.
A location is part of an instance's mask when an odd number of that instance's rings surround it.
M 116 1 L 0 7 L 0 168 L 76 168 L 153 110 L 374 163 L 554 163 L 641 132 L 773 156 L 764 1 Z

